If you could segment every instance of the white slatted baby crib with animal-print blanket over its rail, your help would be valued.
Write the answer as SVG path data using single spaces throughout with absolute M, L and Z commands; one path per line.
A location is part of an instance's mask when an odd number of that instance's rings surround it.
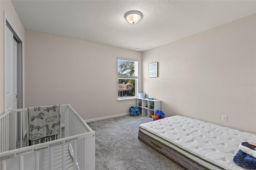
M 0 115 L 0 169 L 1 170 L 92 170 L 95 169 L 95 132 L 70 105 L 60 105 L 64 137 L 22 147 L 24 125 L 22 118 L 28 109 L 14 109 Z M 25 114 L 25 115 L 24 115 Z M 17 134 L 11 133 L 9 123 L 20 115 L 20 148 L 14 146 Z M 14 121 L 15 122 L 15 121 Z M 16 121 L 17 123 L 17 121 Z M 26 125 L 28 127 L 28 125 Z M 28 128 L 26 128 L 28 130 Z M 16 130 L 16 133 L 18 133 Z M 61 133 L 60 133 L 61 134 Z M 51 139 L 51 138 L 50 138 Z

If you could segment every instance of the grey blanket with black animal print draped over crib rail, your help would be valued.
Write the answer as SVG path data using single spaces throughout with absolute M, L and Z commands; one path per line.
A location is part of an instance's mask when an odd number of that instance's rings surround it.
M 60 133 L 60 105 L 28 108 L 29 140 Z

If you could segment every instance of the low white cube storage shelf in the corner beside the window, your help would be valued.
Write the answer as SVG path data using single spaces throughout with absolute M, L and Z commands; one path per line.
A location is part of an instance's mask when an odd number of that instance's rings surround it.
M 142 103 L 141 106 L 139 106 L 139 103 Z M 151 105 L 154 105 L 154 109 L 151 108 Z M 156 114 L 157 110 L 161 110 L 161 101 L 160 100 L 151 100 L 148 98 L 137 98 L 137 106 L 142 111 L 142 116 L 150 117 L 151 114 Z

